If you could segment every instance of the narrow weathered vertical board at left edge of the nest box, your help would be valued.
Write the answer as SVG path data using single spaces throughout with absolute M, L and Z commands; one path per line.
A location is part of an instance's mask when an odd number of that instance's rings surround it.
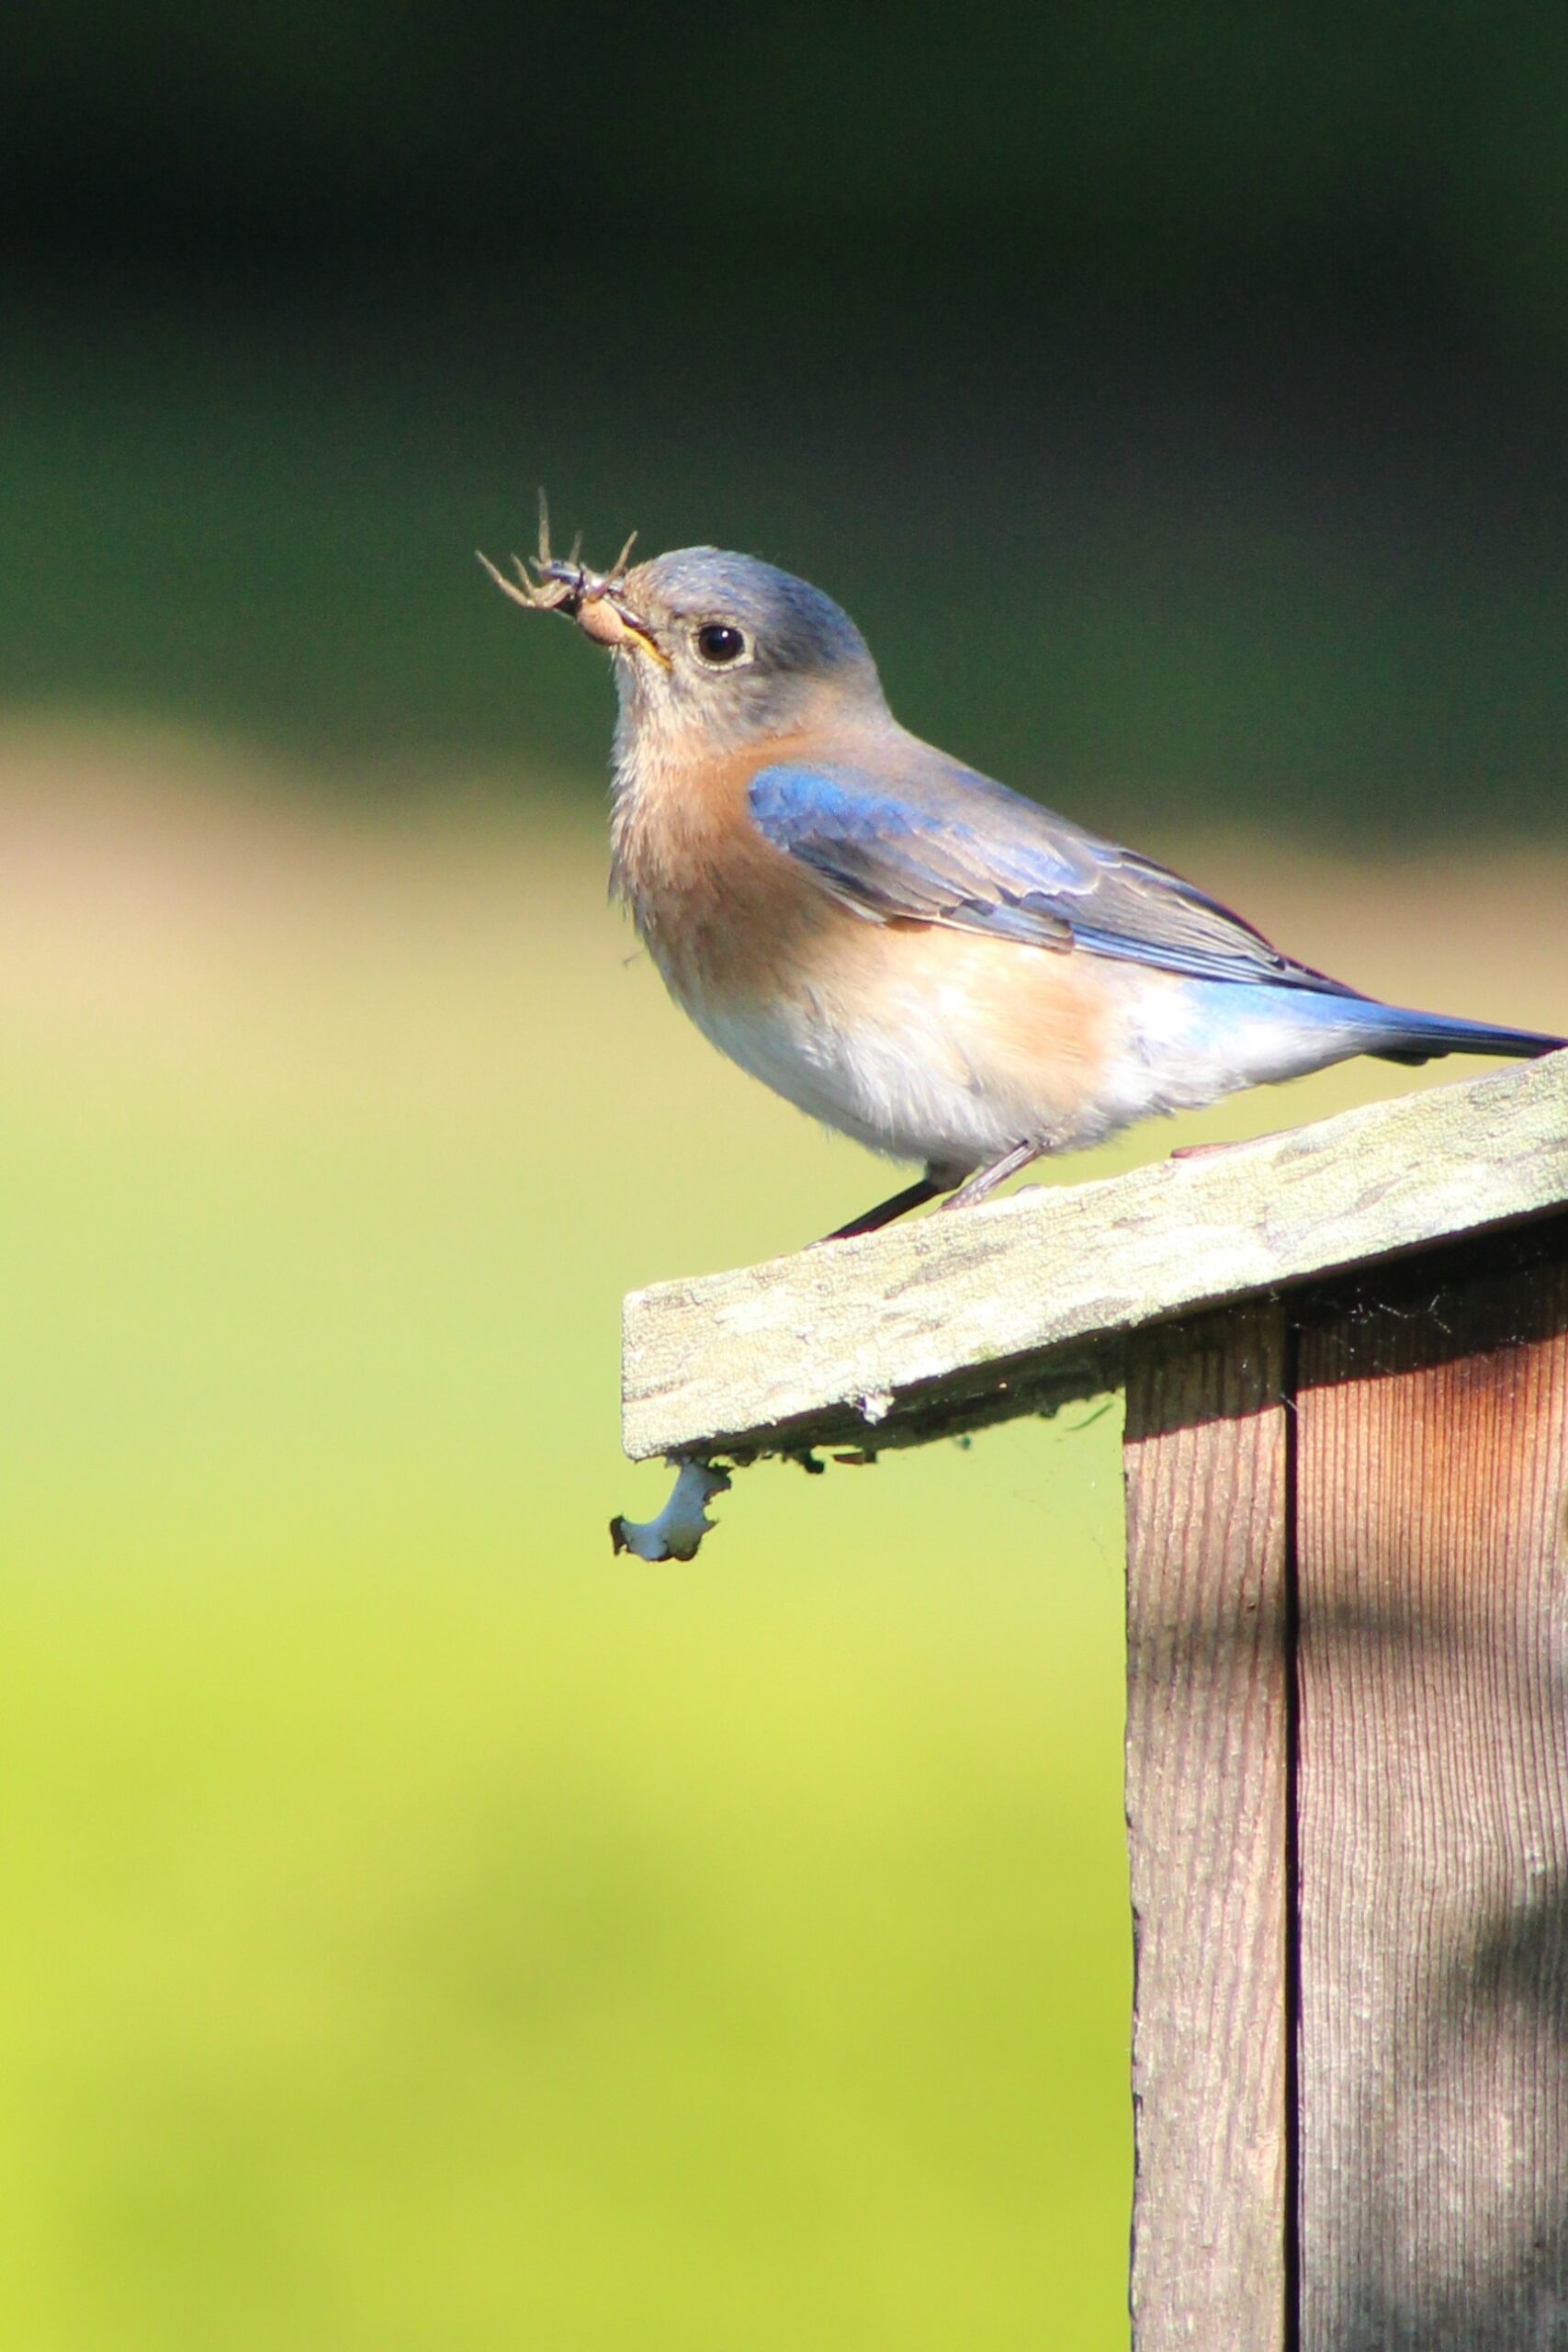
M 1128 1364 L 1135 2352 L 1288 2340 L 1284 1374 L 1279 1305 Z

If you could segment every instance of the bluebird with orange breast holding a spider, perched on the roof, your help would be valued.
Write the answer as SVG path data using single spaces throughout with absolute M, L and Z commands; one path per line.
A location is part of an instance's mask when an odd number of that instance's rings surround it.
M 1046 1152 L 1371 1054 L 1566 1040 L 1380 1004 L 898 724 L 820 588 L 719 548 L 491 576 L 609 647 L 611 880 L 705 1037 L 957 1209 Z M 484 560 L 484 557 L 482 557 Z

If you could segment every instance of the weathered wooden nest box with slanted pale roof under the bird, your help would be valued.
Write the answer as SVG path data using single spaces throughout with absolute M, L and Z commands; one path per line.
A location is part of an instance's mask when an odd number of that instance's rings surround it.
M 1568 2347 L 1568 1054 L 625 1303 L 637 1458 L 1112 1388 L 1138 2352 Z

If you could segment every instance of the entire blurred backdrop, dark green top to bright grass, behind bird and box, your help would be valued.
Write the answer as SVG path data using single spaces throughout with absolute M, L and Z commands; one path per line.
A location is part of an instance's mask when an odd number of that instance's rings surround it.
M 1126 2340 L 1117 1416 L 611 1559 L 621 1294 L 882 1174 L 604 908 L 607 680 L 473 562 L 536 482 L 1568 1018 L 1568 19 L 623 16 L 5 35 L 19 2345 Z

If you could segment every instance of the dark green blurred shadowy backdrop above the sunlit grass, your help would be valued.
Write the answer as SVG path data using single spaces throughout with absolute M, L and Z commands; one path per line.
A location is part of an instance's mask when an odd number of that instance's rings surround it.
M 470 555 L 543 480 L 1077 814 L 1554 826 L 1566 66 L 1528 0 L 28 12 L 0 691 L 597 774 Z

